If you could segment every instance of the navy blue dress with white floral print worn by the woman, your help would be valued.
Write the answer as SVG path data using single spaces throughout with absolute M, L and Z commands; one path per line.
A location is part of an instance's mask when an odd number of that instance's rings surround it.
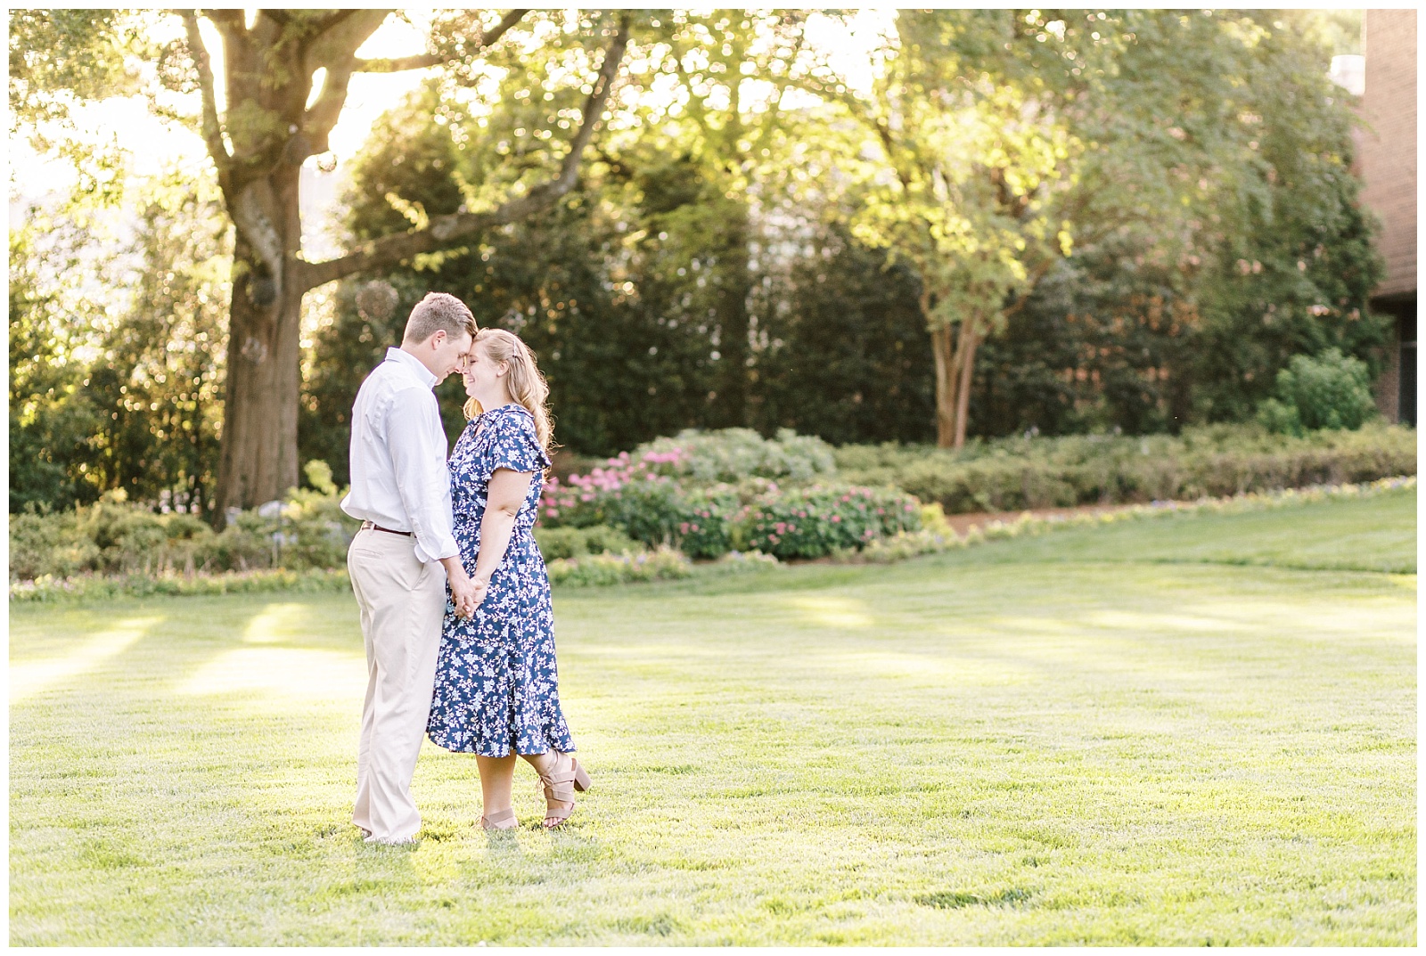
M 475 571 L 491 474 L 505 467 L 535 477 L 475 615 L 456 617 L 446 591 L 426 734 L 448 751 L 482 757 L 572 751 L 559 708 L 549 577 L 530 530 L 549 467 L 533 416 L 519 405 L 491 409 L 465 427 L 449 466 L 455 540 L 466 573 Z

